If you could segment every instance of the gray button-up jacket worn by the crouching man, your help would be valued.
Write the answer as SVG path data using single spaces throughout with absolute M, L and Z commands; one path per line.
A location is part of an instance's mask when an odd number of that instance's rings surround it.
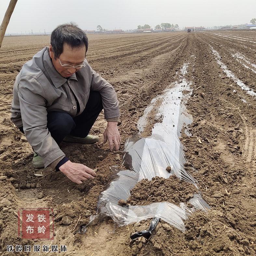
M 119 107 L 112 85 L 97 74 L 88 62 L 68 80 L 54 68 L 45 47 L 25 63 L 17 75 L 11 104 L 11 121 L 22 127 L 34 151 L 43 157 L 45 167 L 65 154 L 47 129 L 47 112 L 61 111 L 72 117 L 86 106 L 90 90 L 99 91 L 105 118 L 118 117 Z M 76 101 L 80 105 L 77 113 Z

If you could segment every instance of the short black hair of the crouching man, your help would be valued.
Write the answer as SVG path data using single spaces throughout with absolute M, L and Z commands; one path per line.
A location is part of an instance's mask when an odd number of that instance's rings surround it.
M 54 52 L 55 58 L 59 58 L 63 52 L 63 44 L 66 43 L 69 46 L 75 48 L 80 47 L 83 44 L 88 50 L 88 38 L 85 32 L 78 28 L 78 26 L 72 22 L 59 25 L 51 33 L 51 46 Z

